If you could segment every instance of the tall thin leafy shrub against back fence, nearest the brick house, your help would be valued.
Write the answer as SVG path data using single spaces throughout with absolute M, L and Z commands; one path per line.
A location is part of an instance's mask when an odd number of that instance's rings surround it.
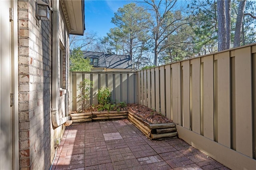
M 88 79 L 84 79 L 80 81 L 80 83 L 78 84 L 77 91 L 79 91 L 78 92 L 79 95 L 77 98 L 80 99 L 80 106 L 82 110 L 85 109 L 86 100 L 88 99 L 88 92 L 91 87 L 92 87 L 92 81 Z

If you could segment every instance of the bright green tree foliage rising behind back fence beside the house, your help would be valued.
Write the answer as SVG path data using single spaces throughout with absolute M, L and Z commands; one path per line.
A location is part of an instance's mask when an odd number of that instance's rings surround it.
M 91 71 L 90 59 L 84 59 L 80 47 L 74 48 L 70 55 L 70 71 Z

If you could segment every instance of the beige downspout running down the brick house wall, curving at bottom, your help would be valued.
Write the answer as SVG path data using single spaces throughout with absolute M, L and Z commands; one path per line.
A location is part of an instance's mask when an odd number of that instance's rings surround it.
M 52 18 L 52 125 L 59 127 L 66 121 L 68 117 L 62 117 L 58 113 L 58 104 L 60 89 L 58 87 L 58 57 L 59 57 L 59 0 L 52 1 L 53 18 Z

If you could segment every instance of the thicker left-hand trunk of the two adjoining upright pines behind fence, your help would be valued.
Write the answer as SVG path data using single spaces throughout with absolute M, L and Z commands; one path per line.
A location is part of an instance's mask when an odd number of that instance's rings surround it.
M 217 0 L 218 10 L 218 51 L 227 49 L 226 47 L 226 14 L 224 0 Z

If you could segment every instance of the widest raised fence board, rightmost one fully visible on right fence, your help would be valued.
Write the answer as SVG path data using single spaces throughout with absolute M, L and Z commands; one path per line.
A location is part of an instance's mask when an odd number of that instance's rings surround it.
M 236 151 L 252 158 L 252 68 L 250 47 L 235 51 Z M 250 125 L 248 125 L 250 124 Z

